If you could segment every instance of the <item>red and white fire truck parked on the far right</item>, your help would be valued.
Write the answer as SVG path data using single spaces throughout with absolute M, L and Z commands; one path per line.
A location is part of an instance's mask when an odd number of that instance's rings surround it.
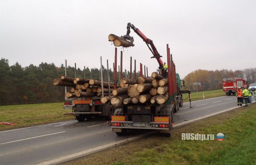
M 246 87 L 247 81 L 244 78 L 229 78 L 229 79 L 223 79 L 222 80 L 222 86 L 223 86 L 223 92 L 226 93 L 226 95 L 236 94 L 238 86 Z

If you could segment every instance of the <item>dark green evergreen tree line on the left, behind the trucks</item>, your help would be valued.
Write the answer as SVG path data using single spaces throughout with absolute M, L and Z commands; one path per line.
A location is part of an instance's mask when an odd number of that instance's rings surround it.
M 103 80 L 108 81 L 108 71 L 102 66 Z M 54 63 L 41 63 L 39 66 L 30 64 L 24 68 L 16 62 L 9 66 L 8 59 L 0 60 L 0 105 L 21 105 L 35 103 L 63 102 L 65 87 L 54 86 L 53 79 L 65 75 L 65 66 L 55 66 Z M 129 77 L 130 72 L 123 72 L 122 77 Z M 139 72 L 136 73 L 139 77 Z M 75 68 L 67 66 L 67 76 L 75 77 Z M 76 77 L 100 79 L 100 69 L 76 69 Z M 118 76 L 118 75 L 117 75 Z M 110 81 L 114 81 L 114 74 L 109 69 Z M 119 76 L 118 76 L 119 77 Z

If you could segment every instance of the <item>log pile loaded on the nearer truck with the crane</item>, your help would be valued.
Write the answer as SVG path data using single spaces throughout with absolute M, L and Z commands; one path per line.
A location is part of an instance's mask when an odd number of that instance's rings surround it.
M 110 102 L 115 107 L 122 104 L 163 104 L 169 98 L 168 79 L 155 72 L 155 78 L 152 77 L 138 77 L 137 81 L 123 78 L 120 86 L 121 84 L 129 86 L 113 90 L 113 96 L 103 97 L 101 102 L 103 104 Z

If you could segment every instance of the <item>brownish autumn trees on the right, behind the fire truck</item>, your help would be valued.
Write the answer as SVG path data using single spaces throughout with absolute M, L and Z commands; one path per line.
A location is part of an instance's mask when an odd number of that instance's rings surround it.
M 248 85 L 256 82 L 256 68 L 244 70 L 195 70 L 186 75 L 184 78 L 185 86 L 192 92 L 196 91 L 196 86 L 193 83 L 200 83 L 197 86 L 198 91 L 222 89 L 222 80 L 226 78 L 245 78 Z

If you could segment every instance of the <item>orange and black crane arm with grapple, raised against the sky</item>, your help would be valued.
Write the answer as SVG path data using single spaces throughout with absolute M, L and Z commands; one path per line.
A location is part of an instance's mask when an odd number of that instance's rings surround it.
M 158 61 L 159 64 L 159 68 L 163 68 L 163 61 L 160 59 L 160 57 L 162 57 L 157 49 L 156 46 L 153 44 L 153 41 L 150 40 L 149 38 L 147 38 L 137 27 L 135 27 L 133 24 L 128 23 L 127 24 L 127 33 L 126 35 L 122 36 L 124 39 L 126 40 L 130 40 L 131 44 L 134 41 L 133 37 L 130 37 L 130 28 L 132 28 L 134 30 L 134 32 L 143 39 L 143 41 L 147 44 L 149 50 L 152 52 L 152 54 L 154 55 L 151 58 L 156 58 L 156 60 Z M 151 48 L 150 48 L 151 47 Z

